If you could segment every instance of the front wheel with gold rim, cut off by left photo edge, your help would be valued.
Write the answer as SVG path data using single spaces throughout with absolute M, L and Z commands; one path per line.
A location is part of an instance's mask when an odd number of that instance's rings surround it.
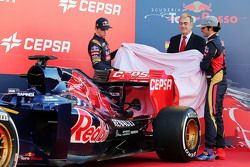
M 18 153 L 19 141 L 15 124 L 0 108 L 0 166 L 15 167 Z

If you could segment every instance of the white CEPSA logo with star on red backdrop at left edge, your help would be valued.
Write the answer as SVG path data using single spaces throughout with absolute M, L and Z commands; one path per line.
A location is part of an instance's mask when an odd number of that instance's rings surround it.
M 52 52 L 70 52 L 70 41 L 41 39 L 41 38 L 25 38 L 19 39 L 17 32 L 13 35 L 1 40 L 2 46 L 5 46 L 5 53 L 8 53 L 14 47 L 23 45 L 24 50 L 35 51 L 52 51 Z

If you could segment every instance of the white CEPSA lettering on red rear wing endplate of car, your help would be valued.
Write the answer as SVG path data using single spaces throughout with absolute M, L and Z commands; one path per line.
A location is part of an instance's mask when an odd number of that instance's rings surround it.
M 172 79 L 151 79 L 150 90 L 171 90 L 173 85 Z

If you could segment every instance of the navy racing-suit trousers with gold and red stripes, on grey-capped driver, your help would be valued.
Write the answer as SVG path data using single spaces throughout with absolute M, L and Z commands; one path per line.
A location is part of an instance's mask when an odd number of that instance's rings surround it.
M 224 148 L 224 123 L 222 117 L 223 99 L 227 89 L 227 80 L 222 72 L 208 79 L 205 104 L 205 146 Z

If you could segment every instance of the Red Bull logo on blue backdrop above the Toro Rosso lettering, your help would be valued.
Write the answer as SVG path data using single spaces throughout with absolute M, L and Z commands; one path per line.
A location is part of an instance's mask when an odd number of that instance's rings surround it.
M 183 4 L 183 11 L 193 11 L 195 13 L 204 11 L 212 12 L 211 6 L 211 4 L 207 5 L 200 1 L 194 1 L 193 3 L 188 5 Z

